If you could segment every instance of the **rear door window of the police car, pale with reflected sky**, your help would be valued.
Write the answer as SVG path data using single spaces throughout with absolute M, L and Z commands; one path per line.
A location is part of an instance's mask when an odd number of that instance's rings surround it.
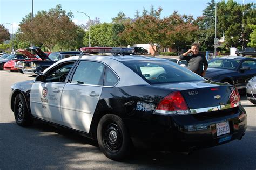
M 99 62 L 80 61 L 71 83 L 102 85 L 104 67 L 105 66 Z

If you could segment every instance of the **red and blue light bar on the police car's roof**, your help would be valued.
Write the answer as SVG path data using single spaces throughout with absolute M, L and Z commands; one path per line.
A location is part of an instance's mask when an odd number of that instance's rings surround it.
M 80 51 L 84 53 L 98 52 L 98 53 L 133 53 L 132 48 L 112 48 L 112 47 L 82 47 Z

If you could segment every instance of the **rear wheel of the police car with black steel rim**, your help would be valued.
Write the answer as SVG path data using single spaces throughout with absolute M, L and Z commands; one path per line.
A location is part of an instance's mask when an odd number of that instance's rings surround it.
M 122 119 L 113 114 L 104 115 L 98 124 L 97 140 L 100 150 L 112 160 L 122 160 L 131 153 L 131 139 Z

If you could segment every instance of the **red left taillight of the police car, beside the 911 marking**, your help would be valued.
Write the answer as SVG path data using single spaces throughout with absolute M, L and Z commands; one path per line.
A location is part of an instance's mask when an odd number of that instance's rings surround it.
M 179 91 L 165 96 L 157 105 L 154 114 L 184 115 L 190 114 L 187 103 Z

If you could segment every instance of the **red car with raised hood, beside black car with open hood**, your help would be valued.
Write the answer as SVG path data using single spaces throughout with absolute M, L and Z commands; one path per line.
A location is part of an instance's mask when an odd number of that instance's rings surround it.
M 4 70 L 11 70 L 11 71 L 19 71 L 22 73 L 22 70 L 21 69 L 17 69 L 15 67 L 16 63 L 18 61 L 35 61 L 35 60 L 41 60 L 41 58 L 31 54 L 29 51 L 27 51 L 26 49 L 18 49 L 17 52 L 21 52 L 23 53 L 26 58 L 25 59 L 22 59 L 22 60 L 10 60 L 8 62 L 6 62 L 4 64 Z M 46 55 L 49 55 L 50 52 L 45 52 Z

